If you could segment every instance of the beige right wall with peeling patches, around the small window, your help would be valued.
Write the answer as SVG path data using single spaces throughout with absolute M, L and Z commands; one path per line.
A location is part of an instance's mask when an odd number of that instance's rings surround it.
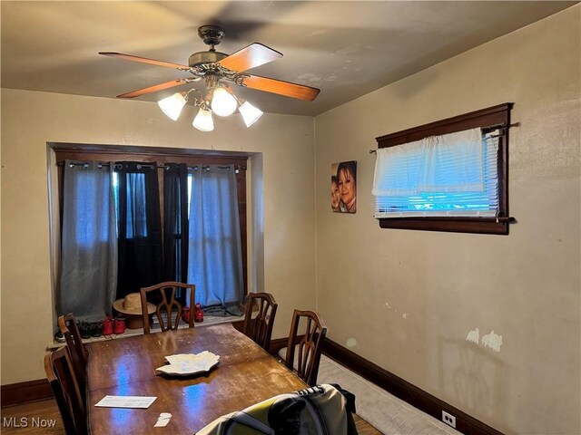
M 317 291 L 330 339 L 506 433 L 578 434 L 580 7 L 316 118 Z M 379 55 L 379 53 L 378 53 Z M 374 138 L 502 102 L 510 235 L 379 229 Z M 358 211 L 330 165 L 358 160 Z M 500 352 L 467 341 L 494 331 Z

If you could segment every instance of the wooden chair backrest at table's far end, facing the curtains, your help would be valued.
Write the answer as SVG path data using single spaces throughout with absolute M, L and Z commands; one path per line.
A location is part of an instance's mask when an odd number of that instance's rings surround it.
M 151 292 L 158 292 L 161 295 L 161 301 L 157 304 L 155 314 L 160 323 L 162 331 L 169 331 L 171 329 L 178 329 L 180 318 L 182 317 L 182 304 L 176 301 L 176 290 L 184 288 L 190 290 L 190 318 L 188 325 L 193 328 L 193 304 L 195 304 L 195 288 L 193 284 L 176 283 L 168 281 L 151 287 L 144 287 L 141 289 L 142 294 L 142 314 L 143 314 L 143 333 L 150 333 L 149 312 L 147 309 L 147 294 Z M 168 297 L 169 293 L 169 297 Z M 165 316 L 162 315 L 165 314 Z M 174 317 L 173 317 L 174 316 Z M 164 318 L 165 317 L 165 318 Z

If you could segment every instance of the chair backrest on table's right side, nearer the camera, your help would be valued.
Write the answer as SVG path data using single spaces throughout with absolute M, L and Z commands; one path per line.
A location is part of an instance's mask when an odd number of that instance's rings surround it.
M 299 339 L 298 333 L 301 318 L 305 319 L 306 328 L 304 335 Z M 317 384 L 320 353 L 323 350 L 326 334 L 327 326 L 325 326 L 319 314 L 313 311 L 294 310 L 285 365 L 291 370 L 294 368 L 300 379 L 307 382 L 311 387 Z M 298 358 L 296 366 L 293 367 L 295 352 Z

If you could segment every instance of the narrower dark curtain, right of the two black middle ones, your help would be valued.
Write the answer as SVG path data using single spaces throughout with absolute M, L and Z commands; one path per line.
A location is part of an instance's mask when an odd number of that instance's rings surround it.
M 189 227 L 185 163 L 167 163 L 163 168 L 163 235 L 163 280 L 186 283 Z M 185 303 L 184 295 L 178 296 Z

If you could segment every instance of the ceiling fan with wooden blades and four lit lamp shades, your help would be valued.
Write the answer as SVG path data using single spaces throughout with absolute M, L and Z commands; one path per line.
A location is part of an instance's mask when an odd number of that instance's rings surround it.
M 222 27 L 217 25 L 202 25 L 198 29 L 198 34 L 202 38 L 202 41 L 210 45 L 211 48 L 207 52 L 193 53 L 190 56 L 188 65 L 156 61 L 131 54 L 99 53 L 127 61 L 175 68 L 184 73 L 192 74 L 192 77 L 181 77 L 136 91 L 122 93 L 121 95 L 117 95 L 117 98 L 139 97 L 147 93 L 159 92 L 185 83 L 199 82 L 203 79 L 206 86 L 205 95 L 202 95 L 202 92 L 197 89 L 191 89 L 187 92 L 177 92 L 171 97 L 159 102 L 162 111 L 172 118 L 173 121 L 176 121 L 182 111 L 182 107 L 188 101 L 189 94 L 191 92 L 198 92 L 199 96 L 195 98 L 194 106 L 200 106 L 200 112 L 194 119 L 193 126 L 202 131 L 213 130 L 212 113 L 219 116 L 229 116 L 238 109 L 247 127 L 250 127 L 254 121 L 260 118 L 262 111 L 252 106 L 251 103 L 238 99 L 232 92 L 231 83 L 249 89 L 276 93 L 307 102 L 312 102 L 317 98 L 320 92 L 317 88 L 246 73 L 251 68 L 281 58 L 282 53 L 261 43 L 251 43 L 238 52 L 228 55 L 217 52 L 214 48 L 222 42 L 222 38 L 224 37 Z M 248 114 L 246 115 L 245 113 Z

